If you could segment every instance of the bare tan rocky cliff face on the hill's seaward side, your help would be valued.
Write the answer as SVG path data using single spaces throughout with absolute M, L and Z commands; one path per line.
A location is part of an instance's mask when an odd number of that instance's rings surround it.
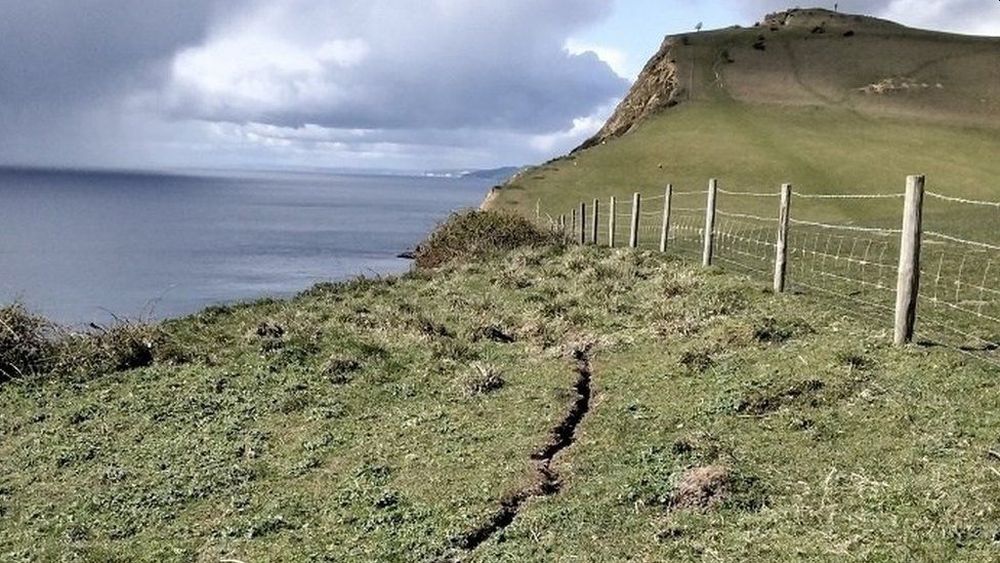
M 649 115 L 678 102 L 677 61 L 675 46 L 680 40 L 667 37 L 643 68 L 639 78 L 632 85 L 625 99 L 615 109 L 615 113 L 596 135 L 585 141 L 575 151 L 599 145 L 608 139 L 628 133 Z

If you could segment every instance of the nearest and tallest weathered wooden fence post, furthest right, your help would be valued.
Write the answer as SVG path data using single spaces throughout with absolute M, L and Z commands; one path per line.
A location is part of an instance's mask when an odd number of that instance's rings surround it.
M 897 346 L 913 341 L 920 291 L 920 239 L 923 231 L 924 177 L 907 176 L 903 205 L 903 236 L 899 245 L 899 279 L 896 282 Z

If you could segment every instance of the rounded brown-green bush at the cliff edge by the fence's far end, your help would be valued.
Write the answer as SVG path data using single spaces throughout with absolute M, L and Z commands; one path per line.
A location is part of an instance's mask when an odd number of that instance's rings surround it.
M 552 231 L 517 215 L 471 211 L 452 215 L 424 241 L 414 256 L 418 268 L 437 268 L 457 261 L 487 258 L 523 247 L 558 244 Z

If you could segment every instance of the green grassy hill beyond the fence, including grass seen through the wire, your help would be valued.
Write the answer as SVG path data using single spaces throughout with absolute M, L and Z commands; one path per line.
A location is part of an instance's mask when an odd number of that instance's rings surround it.
M 569 221 L 580 203 L 592 209 L 594 200 L 606 217 L 615 196 L 617 240 L 624 244 L 637 192 L 646 202 L 640 243 L 653 248 L 669 183 L 687 193 L 674 200 L 671 244 L 697 259 L 701 192 L 710 178 L 728 192 L 776 196 L 790 183 L 805 196 L 888 195 L 902 194 L 906 177 L 922 174 L 931 192 L 1000 202 L 1000 39 L 823 10 L 793 16 L 787 25 L 668 38 L 609 122 L 629 125 L 627 133 L 603 130 L 591 148 L 526 170 L 496 190 L 487 206 L 538 213 L 543 222 L 562 215 Z M 672 81 L 664 81 L 664 73 Z M 885 80 L 895 89 L 862 91 Z M 630 113 L 661 103 L 667 91 L 676 105 Z M 718 262 L 769 277 L 778 198 L 723 193 L 718 210 L 725 214 L 717 223 Z M 793 226 L 792 286 L 891 325 L 899 240 L 892 231 L 901 226 L 901 198 L 796 198 L 792 217 L 842 228 Z M 998 208 L 928 197 L 923 227 L 973 244 L 926 239 L 919 334 L 960 348 L 997 348 Z M 850 230 L 857 228 L 887 232 Z M 605 242 L 604 221 L 599 230 Z

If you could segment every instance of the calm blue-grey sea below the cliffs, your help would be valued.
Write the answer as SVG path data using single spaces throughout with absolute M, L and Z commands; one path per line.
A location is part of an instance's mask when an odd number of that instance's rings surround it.
M 488 180 L 0 169 L 0 303 L 66 324 L 285 296 L 396 258 Z

